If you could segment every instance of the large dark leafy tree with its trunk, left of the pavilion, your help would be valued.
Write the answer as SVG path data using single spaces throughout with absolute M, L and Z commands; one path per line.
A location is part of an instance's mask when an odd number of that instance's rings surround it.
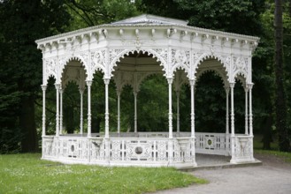
M 34 41 L 64 32 L 68 19 L 62 0 L 4 0 L 0 3 L 0 35 L 4 44 L 0 70 L 5 72 L 1 73 L 4 88 L 1 85 L 0 88 L 10 90 L 1 91 L 0 99 L 7 107 L 0 111 L 2 118 L 6 113 L 19 126 L 22 152 L 38 150 L 34 101 L 42 85 L 42 53 Z M 18 127 L 14 127 L 8 120 L 1 122 L 2 138 L 8 138 L 4 137 L 4 129 L 15 131 Z M 2 141 L 1 144 L 2 148 L 7 143 Z

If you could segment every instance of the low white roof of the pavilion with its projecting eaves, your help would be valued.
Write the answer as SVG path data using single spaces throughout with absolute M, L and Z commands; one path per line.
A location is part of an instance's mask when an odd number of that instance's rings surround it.
M 226 33 L 223 31 L 205 29 L 195 26 L 188 26 L 188 21 L 181 19 L 170 19 L 165 17 L 159 17 L 150 14 L 142 14 L 137 17 L 123 19 L 116 22 L 112 22 L 111 24 L 103 24 L 99 26 L 91 26 L 87 28 L 82 28 L 79 30 L 75 30 L 72 32 L 68 32 L 65 34 L 57 34 L 54 36 L 46 37 L 40 40 L 35 41 L 37 44 L 46 44 L 51 43 L 53 41 L 64 41 L 66 38 L 73 38 L 76 36 L 82 36 L 85 34 L 94 34 L 103 29 L 122 29 L 122 28 L 171 28 L 188 31 L 191 34 L 207 34 L 211 36 L 221 36 L 226 37 L 228 39 L 237 39 L 240 41 L 259 41 L 258 37 L 243 35 L 243 34 L 233 34 Z

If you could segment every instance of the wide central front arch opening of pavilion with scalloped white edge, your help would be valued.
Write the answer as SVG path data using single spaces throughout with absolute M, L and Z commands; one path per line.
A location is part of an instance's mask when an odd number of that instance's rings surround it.
M 166 94 L 167 85 L 163 76 L 166 74 L 165 60 L 160 58 L 156 51 L 150 49 L 124 50 L 113 66 L 112 75 L 117 88 L 118 101 L 121 97 L 123 102 L 120 109 L 131 108 L 131 112 L 127 113 L 129 116 L 119 116 L 118 114 L 118 120 L 121 121 L 119 126 L 126 127 L 126 129 L 120 130 L 137 132 L 164 129 L 163 131 L 166 131 L 167 108 L 162 106 L 163 101 L 160 99 L 161 91 L 165 91 L 164 94 Z M 131 86 L 131 89 L 127 87 L 124 90 L 125 86 Z M 139 98 L 139 96 L 142 97 Z M 165 102 L 166 96 L 164 97 Z M 155 109 L 160 110 L 161 107 L 163 110 L 165 109 L 165 114 L 155 116 L 155 113 L 158 112 Z

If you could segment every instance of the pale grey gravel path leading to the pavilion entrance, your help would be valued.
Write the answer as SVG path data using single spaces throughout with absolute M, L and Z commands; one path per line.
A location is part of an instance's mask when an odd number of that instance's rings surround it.
M 210 183 L 156 193 L 291 193 L 291 165 L 276 156 L 255 156 L 262 166 L 225 169 L 201 169 L 191 174 Z

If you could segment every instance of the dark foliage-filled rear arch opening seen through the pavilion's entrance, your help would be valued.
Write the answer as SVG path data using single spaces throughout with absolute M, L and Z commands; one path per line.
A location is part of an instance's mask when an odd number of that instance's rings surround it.
M 216 71 L 203 71 L 196 80 L 195 110 L 196 131 L 226 131 L 226 92 Z

